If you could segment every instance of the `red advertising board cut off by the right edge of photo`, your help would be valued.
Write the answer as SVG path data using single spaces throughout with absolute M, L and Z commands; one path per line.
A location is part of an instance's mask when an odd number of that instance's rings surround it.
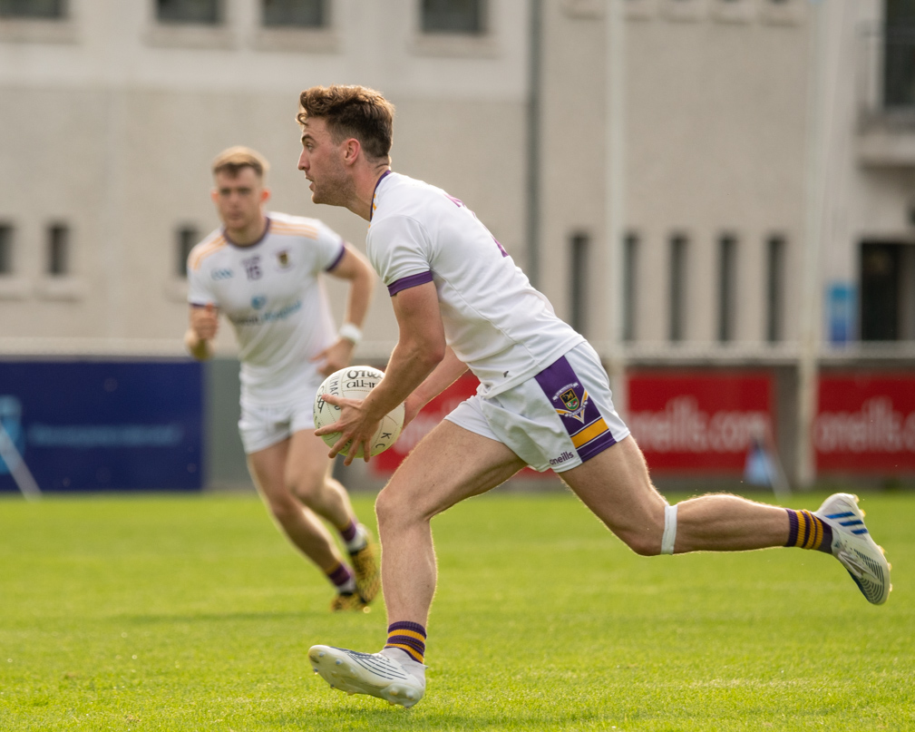
M 915 373 L 821 375 L 813 449 L 823 473 L 915 473 Z

